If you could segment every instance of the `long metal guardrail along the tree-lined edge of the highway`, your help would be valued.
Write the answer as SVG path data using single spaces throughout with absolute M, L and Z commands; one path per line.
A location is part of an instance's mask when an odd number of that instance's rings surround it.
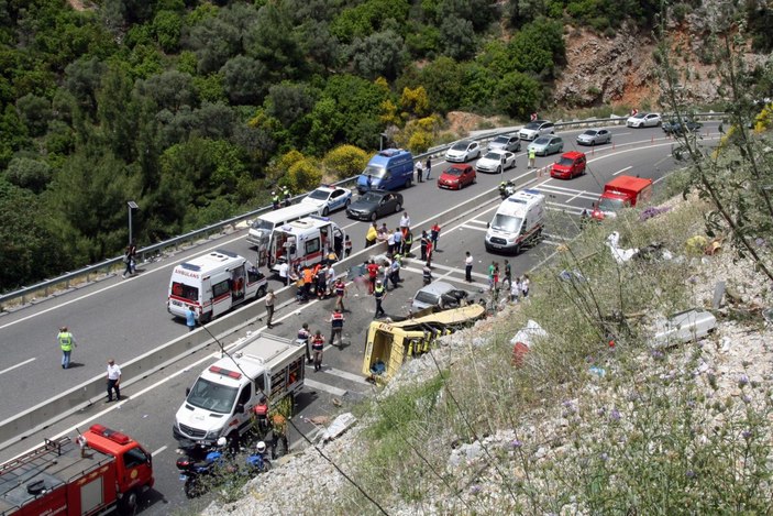
M 708 112 L 708 113 L 694 113 L 692 114 L 693 118 L 699 118 L 699 119 L 713 119 L 713 118 L 720 118 L 725 117 L 726 113 L 724 112 Z M 663 118 L 669 118 L 670 114 L 664 113 Z M 586 120 L 571 120 L 571 121 L 565 121 L 565 122 L 555 122 L 556 128 L 562 128 L 562 129 L 582 129 L 582 128 L 587 128 L 587 127 L 595 127 L 595 125 L 619 125 L 621 123 L 626 123 L 626 120 L 628 119 L 628 116 L 622 116 L 622 117 L 610 117 L 610 118 L 592 118 L 592 119 L 586 119 Z M 520 128 L 509 129 L 507 131 L 497 131 L 493 130 L 490 133 L 484 133 L 484 134 L 478 134 L 476 136 L 470 138 L 470 140 L 475 140 L 481 143 L 487 143 L 488 141 L 503 135 L 503 134 L 510 134 L 519 130 Z M 416 161 L 422 161 L 427 157 L 435 157 L 439 153 L 442 153 L 446 151 L 453 143 L 449 143 L 445 145 L 441 145 L 440 147 L 433 147 L 429 152 L 426 152 L 423 154 L 419 154 L 413 156 Z M 333 183 L 333 185 L 349 185 L 354 182 L 356 182 L 357 176 L 353 177 L 347 177 L 345 179 L 339 180 Z M 308 193 L 303 193 L 300 195 L 297 195 L 291 198 L 292 202 L 296 202 L 300 200 L 301 198 L 306 197 Z M 144 261 L 146 256 L 154 256 L 154 255 L 161 255 L 163 252 L 169 248 L 174 249 L 179 249 L 183 243 L 185 242 L 192 242 L 201 239 L 209 238 L 210 235 L 214 233 L 222 233 L 222 231 L 229 227 L 233 226 L 235 227 L 240 222 L 243 222 L 247 219 L 255 218 L 262 213 L 268 212 L 272 210 L 272 206 L 264 206 L 261 208 L 257 208 L 252 211 L 247 211 L 246 213 L 242 213 L 236 217 L 232 217 L 230 219 L 221 220 L 220 222 L 216 222 L 213 224 L 206 226 L 205 228 L 197 229 L 195 231 L 189 231 L 185 234 L 181 234 L 179 237 L 175 237 L 169 240 L 165 240 L 163 242 L 155 243 L 153 245 L 148 245 L 146 248 L 142 248 L 137 251 L 137 254 L 140 256 L 140 261 Z M 43 293 L 43 297 L 48 297 L 52 293 L 52 290 L 68 290 L 71 287 L 71 283 L 74 281 L 85 281 L 86 283 L 91 281 L 92 276 L 100 276 L 100 275 L 107 275 L 110 273 L 111 270 L 115 268 L 117 266 L 120 268 L 123 266 L 122 263 L 123 256 L 117 256 L 113 259 L 108 259 L 102 262 L 99 262 L 93 265 L 88 265 L 86 267 L 79 268 L 77 271 L 68 272 L 66 274 L 63 274 L 62 276 L 55 277 L 53 279 L 46 279 L 41 283 L 36 283 L 35 285 L 31 285 L 29 287 L 22 287 L 18 290 L 10 292 L 8 294 L 0 295 L 0 311 L 3 311 L 5 308 L 5 305 L 11 301 L 15 301 L 21 299 L 21 304 L 24 305 L 26 304 L 31 297 L 34 297 L 38 295 L 41 292 Z

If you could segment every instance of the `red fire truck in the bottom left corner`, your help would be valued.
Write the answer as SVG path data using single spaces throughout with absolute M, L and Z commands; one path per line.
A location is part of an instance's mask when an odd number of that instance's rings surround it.
M 92 425 L 75 441 L 46 439 L 0 465 L 0 514 L 132 514 L 153 482 L 151 453 L 125 433 Z

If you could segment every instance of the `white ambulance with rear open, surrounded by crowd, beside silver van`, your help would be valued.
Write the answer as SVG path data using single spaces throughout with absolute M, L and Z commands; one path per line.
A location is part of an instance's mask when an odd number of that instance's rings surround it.
M 275 228 L 265 250 L 268 268 L 278 273 L 284 263 L 292 270 L 323 262 L 336 248 L 343 249 L 344 235 L 328 217 L 303 217 Z

